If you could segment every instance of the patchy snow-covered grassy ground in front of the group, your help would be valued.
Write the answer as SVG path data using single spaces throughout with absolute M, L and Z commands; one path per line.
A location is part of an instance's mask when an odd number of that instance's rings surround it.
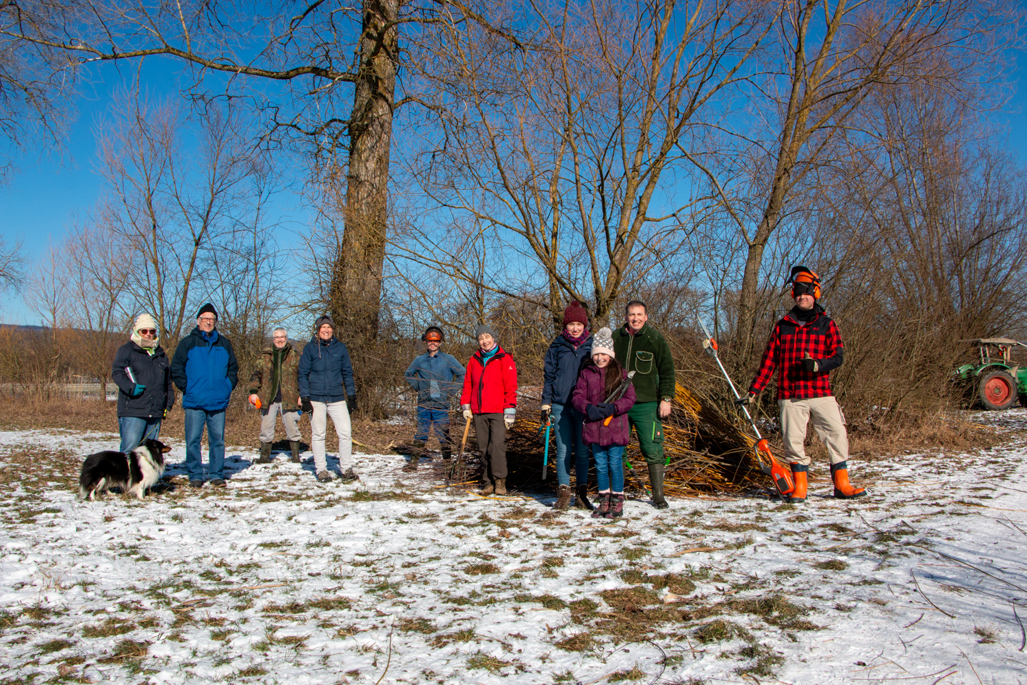
M 1025 683 L 1027 412 L 978 420 L 1007 443 L 854 460 L 863 500 L 821 465 L 804 506 L 616 522 L 238 450 L 224 490 L 83 503 L 114 435 L 0 431 L 0 684 Z

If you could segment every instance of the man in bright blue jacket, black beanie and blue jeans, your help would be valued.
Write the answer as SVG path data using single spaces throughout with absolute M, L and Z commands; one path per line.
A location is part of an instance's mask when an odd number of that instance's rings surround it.
M 225 487 L 225 409 L 238 383 L 239 364 L 228 338 L 217 331 L 218 311 L 207 302 L 196 315 L 196 328 L 175 349 L 172 380 L 182 390 L 186 412 L 186 470 L 189 485 L 203 485 L 200 440 L 206 426 L 211 485 Z

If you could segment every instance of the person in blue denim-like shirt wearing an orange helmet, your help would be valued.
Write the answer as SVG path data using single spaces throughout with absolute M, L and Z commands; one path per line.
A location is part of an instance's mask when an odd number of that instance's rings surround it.
M 410 387 L 417 391 L 417 429 L 414 431 L 410 463 L 403 467 L 405 471 L 417 470 L 431 426 L 435 427 L 443 459 L 449 460 L 453 456 L 449 401 L 451 396 L 459 395 L 463 388 L 464 368 L 452 354 L 439 351 L 445 339 L 441 328 L 429 326 L 421 336 L 427 351 L 416 357 L 404 374 Z

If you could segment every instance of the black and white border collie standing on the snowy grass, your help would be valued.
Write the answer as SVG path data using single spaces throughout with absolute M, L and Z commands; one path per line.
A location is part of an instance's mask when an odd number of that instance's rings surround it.
M 105 450 L 90 454 L 82 463 L 78 477 L 79 497 L 96 501 L 96 494 L 109 492 L 113 487 L 121 492 L 143 499 L 147 488 L 152 488 L 164 474 L 164 453 L 170 452 L 159 440 L 146 440 L 131 452 Z

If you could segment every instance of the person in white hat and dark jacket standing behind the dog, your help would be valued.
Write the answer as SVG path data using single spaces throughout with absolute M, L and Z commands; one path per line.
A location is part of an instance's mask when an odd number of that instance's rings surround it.
M 135 450 L 144 440 L 157 440 L 160 422 L 175 405 L 172 366 L 159 334 L 153 316 L 140 314 L 130 339 L 114 354 L 111 377 L 118 386 L 121 452 Z

